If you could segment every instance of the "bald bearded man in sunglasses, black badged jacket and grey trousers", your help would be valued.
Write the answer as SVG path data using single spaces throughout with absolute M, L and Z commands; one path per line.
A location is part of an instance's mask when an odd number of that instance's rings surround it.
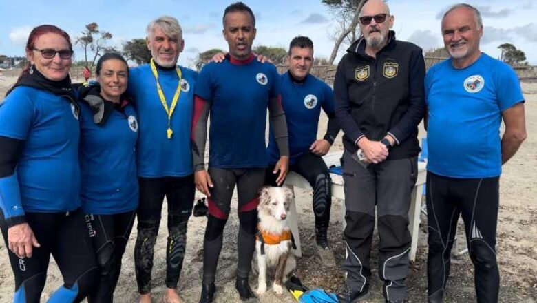
M 386 302 L 404 302 L 425 63 L 419 47 L 395 39 L 386 3 L 366 2 L 359 17 L 362 36 L 339 62 L 334 82 L 335 113 L 344 132 L 347 224 L 347 276 L 339 300 L 368 297 L 376 206 L 383 295 Z

